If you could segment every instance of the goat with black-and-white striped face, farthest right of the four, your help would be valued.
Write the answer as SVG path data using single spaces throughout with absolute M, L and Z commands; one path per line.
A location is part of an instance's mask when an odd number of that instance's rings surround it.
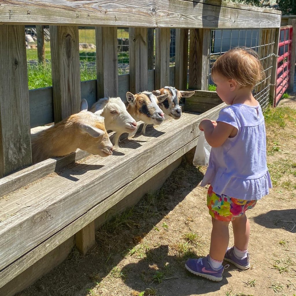
M 163 102 L 160 102 L 158 106 L 164 112 L 164 114 L 172 117 L 173 119 L 179 119 L 182 115 L 182 110 L 179 105 L 181 98 L 189 98 L 194 95 L 194 91 L 179 91 L 172 86 L 165 86 L 163 89 L 152 91 L 155 96 L 168 94 L 168 98 Z

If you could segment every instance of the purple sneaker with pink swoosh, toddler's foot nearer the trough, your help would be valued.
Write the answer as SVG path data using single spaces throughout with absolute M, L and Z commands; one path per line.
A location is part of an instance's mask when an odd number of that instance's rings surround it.
M 205 277 L 211 281 L 222 281 L 222 274 L 224 267 L 214 269 L 210 265 L 210 255 L 199 259 L 188 259 L 185 263 L 185 267 L 192 274 Z

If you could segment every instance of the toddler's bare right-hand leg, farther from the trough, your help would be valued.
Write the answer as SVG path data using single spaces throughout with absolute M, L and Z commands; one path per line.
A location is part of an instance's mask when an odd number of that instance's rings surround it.
M 246 214 L 232 221 L 234 246 L 239 250 L 247 250 L 250 239 L 250 223 Z

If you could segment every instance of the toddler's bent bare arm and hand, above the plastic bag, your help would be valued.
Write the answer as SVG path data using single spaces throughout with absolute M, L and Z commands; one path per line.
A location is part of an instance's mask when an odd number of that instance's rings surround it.
M 216 123 L 210 119 L 203 119 L 199 129 L 205 132 L 205 139 L 212 147 L 221 146 L 229 136 L 234 137 L 237 134 L 237 129 L 234 126 L 221 121 Z

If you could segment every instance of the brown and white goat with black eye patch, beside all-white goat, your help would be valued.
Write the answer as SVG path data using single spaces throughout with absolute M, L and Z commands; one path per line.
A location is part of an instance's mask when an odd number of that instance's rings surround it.
M 135 120 L 144 121 L 142 133 L 145 133 L 149 124 L 161 124 L 164 120 L 163 111 L 158 106 L 159 103 L 167 99 L 168 94 L 155 95 L 149 91 L 143 91 L 139 94 L 126 93 L 128 113 Z

